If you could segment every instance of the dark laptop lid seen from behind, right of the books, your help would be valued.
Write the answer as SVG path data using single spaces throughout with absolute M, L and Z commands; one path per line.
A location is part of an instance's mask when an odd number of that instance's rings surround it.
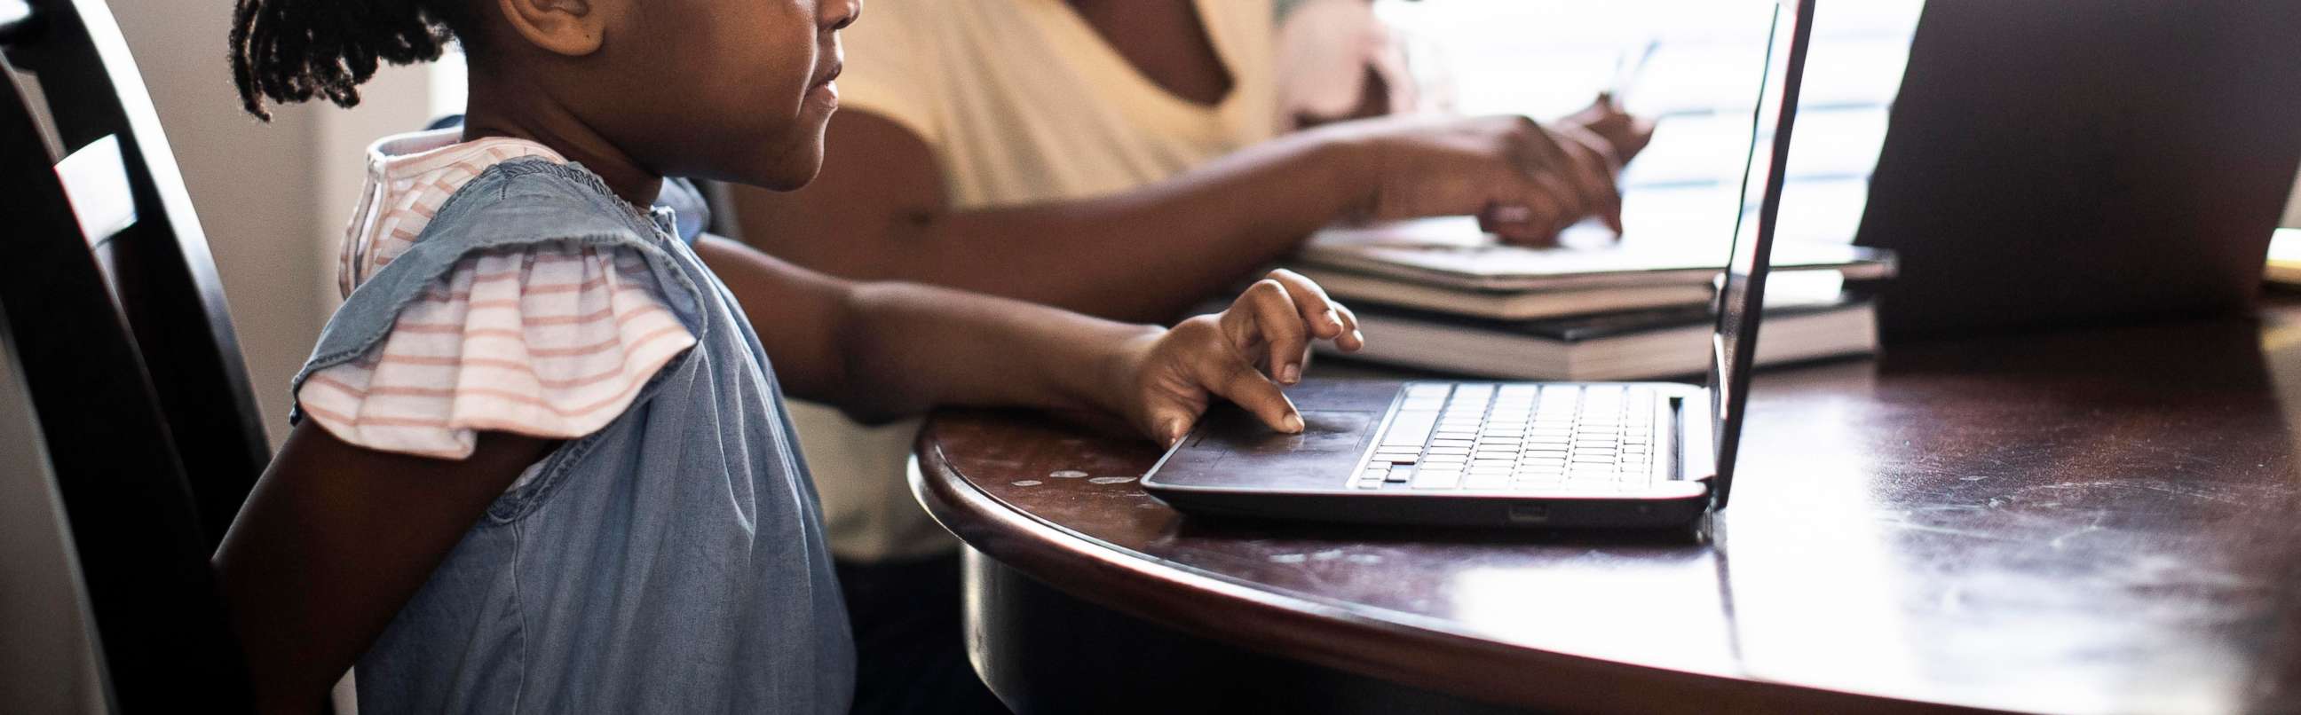
M 2301 2 L 1926 2 L 1855 237 L 1887 340 L 2250 310 Z

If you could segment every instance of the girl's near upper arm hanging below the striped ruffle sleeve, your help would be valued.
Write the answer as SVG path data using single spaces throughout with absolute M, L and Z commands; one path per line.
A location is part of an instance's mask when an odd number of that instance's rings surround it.
M 555 446 L 481 432 L 451 462 L 359 448 L 313 421 L 288 432 L 214 559 L 258 710 L 320 710 L 488 503 Z

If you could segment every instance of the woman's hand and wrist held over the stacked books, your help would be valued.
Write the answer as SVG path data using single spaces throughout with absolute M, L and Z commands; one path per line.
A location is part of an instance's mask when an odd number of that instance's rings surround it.
M 1590 216 L 1622 230 L 1615 175 L 1652 133 L 1652 122 L 1622 113 L 1583 110 L 1576 120 L 1385 117 L 1314 131 L 1353 147 L 1344 175 L 1364 195 L 1360 218 L 1480 216 L 1503 241 L 1544 246 Z

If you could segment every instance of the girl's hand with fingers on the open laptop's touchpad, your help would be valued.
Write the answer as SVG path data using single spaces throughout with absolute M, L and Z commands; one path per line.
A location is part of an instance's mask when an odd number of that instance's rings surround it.
M 1351 308 L 1293 271 L 1270 271 L 1229 310 L 1199 315 L 1125 347 L 1118 372 L 1118 412 L 1137 430 L 1174 446 L 1220 395 L 1279 432 L 1302 432 L 1279 384 L 1302 382 L 1309 340 L 1335 340 L 1344 352 L 1367 345 Z

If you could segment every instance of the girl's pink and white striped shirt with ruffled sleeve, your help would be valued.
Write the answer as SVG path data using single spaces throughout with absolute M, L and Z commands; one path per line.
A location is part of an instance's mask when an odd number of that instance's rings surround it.
M 433 212 L 488 166 L 559 161 L 534 143 L 453 138 L 419 133 L 370 149 L 366 198 L 343 246 L 345 292 L 414 246 Z M 400 310 L 375 349 L 313 372 L 297 400 L 343 441 L 460 460 L 479 430 L 591 435 L 693 345 L 644 260 L 626 248 L 488 251 L 463 257 Z

